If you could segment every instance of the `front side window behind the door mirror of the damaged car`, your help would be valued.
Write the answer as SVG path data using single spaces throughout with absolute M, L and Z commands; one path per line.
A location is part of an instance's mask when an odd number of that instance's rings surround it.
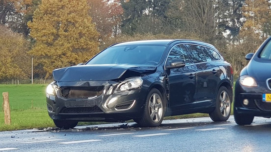
M 184 45 L 176 45 L 175 47 L 172 48 L 172 50 L 169 53 L 169 57 L 167 58 L 167 61 L 171 63 L 171 61 L 174 59 L 184 60 L 186 65 L 190 64 L 186 48 Z

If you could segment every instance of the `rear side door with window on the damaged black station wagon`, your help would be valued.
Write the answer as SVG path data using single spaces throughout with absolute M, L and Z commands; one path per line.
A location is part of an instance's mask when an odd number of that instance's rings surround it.
M 195 107 L 201 107 L 210 105 L 216 94 L 215 90 L 217 88 L 219 78 L 219 67 L 212 61 L 212 58 L 207 57 L 204 51 L 209 51 L 202 49 L 199 45 L 186 45 L 188 48 L 192 62 L 194 63 L 197 77 L 197 89 L 196 89 L 196 102 Z M 210 60 L 211 58 L 211 60 Z

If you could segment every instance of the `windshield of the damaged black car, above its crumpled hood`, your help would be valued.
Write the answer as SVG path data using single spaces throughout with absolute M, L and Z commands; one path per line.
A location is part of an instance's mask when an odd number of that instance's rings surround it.
M 102 51 L 87 64 L 140 64 L 157 65 L 166 46 L 125 45 L 110 47 Z

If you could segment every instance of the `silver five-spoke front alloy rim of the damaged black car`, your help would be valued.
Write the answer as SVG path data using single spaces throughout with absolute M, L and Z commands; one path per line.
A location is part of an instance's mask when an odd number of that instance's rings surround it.
M 158 123 L 161 120 L 163 114 L 163 104 L 161 97 L 157 93 L 152 94 L 150 97 L 149 114 L 154 123 Z

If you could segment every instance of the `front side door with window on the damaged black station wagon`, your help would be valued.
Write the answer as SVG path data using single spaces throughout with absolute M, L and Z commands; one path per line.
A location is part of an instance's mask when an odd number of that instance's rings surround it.
M 196 71 L 188 57 L 185 45 L 172 48 L 166 61 L 169 65 L 174 59 L 182 59 L 185 67 L 167 70 L 169 81 L 169 110 L 192 108 L 196 98 Z

